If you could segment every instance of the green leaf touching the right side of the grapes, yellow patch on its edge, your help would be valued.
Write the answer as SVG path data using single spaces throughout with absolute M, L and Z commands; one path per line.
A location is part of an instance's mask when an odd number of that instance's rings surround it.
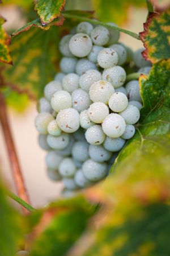
M 116 163 L 126 159 L 137 151 L 150 152 L 154 148 L 165 147 L 170 130 L 170 60 L 161 61 L 151 69 L 150 76 L 139 79 L 143 108 L 135 136 L 129 140 L 120 152 Z

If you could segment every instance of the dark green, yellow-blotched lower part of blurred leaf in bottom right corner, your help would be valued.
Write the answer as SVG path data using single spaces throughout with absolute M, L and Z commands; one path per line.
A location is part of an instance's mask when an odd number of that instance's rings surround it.
M 169 256 L 169 223 L 170 207 L 166 204 L 116 209 L 97 231 L 94 245 L 78 255 Z

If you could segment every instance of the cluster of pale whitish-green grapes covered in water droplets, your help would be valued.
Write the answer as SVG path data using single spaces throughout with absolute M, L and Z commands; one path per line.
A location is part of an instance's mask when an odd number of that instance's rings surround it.
M 115 25 L 115 24 L 114 24 Z M 137 80 L 126 83 L 130 61 L 148 73 L 150 63 L 118 43 L 120 33 L 82 22 L 63 36 L 61 72 L 44 88 L 35 126 L 50 179 L 66 191 L 107 176 L 118 151 L 135 133 L 142 99 Z M 123 65 L 123 67 L 121 67 Z

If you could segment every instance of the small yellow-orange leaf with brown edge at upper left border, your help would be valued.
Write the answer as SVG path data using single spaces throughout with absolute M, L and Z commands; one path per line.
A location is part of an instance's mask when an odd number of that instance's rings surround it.
M 7 64 L 12 64 L 10 50 L 8 45 L 11 43 L 10 36 L 5 32 L 2 25 L 6 20 L 0 15 L 0 61 Z

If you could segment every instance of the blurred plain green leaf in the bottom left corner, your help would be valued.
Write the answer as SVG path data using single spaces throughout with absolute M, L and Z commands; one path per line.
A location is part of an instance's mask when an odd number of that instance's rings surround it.
M 14 256 L 21 242 L 23 221 L 11 207 L 0 184 L 0 256 Z

